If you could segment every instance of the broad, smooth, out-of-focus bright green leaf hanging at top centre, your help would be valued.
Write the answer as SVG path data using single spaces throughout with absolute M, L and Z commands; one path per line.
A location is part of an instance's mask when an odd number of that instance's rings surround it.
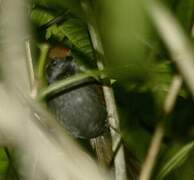
M 101 0 L 96 4 L 105 64 L 110 68 L 111 76 L 140 81 L 149 78 L 151 62 L 146 59 L 145 44 L 142 43 L 149 34 L 149 22 L 143 1 L 121 0 L 118 3 L 113 0 L 110 3 Z

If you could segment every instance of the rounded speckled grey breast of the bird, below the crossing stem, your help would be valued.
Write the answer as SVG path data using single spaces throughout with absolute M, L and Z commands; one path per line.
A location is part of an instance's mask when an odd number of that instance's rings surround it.
M 99 85 L 77 87 L 49 98 L 57 119 L 75 137 L 93 138 L 105 130 L 106 107 L 98 95 Z

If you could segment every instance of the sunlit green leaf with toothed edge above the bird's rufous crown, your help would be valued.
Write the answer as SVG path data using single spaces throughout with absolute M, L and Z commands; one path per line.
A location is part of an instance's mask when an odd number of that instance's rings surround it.
M 31 13 L 31 19 L 37 26 L 48 23 L 54 17 L 56 13 L 41 8 L 35 8 Z M 81 19 L 69 18 L 60 25 L 53 24 L 46 29 L 45 33 L 47 40 L 54 38 L 59 42 L 65 42 L 68 39 L 76 51 L 88 59 L 94 59 L 87 25 Z

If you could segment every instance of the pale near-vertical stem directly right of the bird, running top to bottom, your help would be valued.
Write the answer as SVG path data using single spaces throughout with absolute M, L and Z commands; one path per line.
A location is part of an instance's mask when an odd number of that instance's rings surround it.
M 100 70 L 104 69 L 103 61 L 100 56 L 104 56 L 104 50 L 101 44 L 101 39 L 99 37 L 99 34 L 97 32 L 97 26 L 96 21 L 94 19 L 94 16 L 92 14 L 92 10 L 90 7 L 90 4 L 87 0 L 82 0 L 82 8 L 86 14 L 86 17 L 88 18 L 88 27 L 89 32 L 91 36 L 91 40 L 93 43 L 93 47 L 95 51 L 97 52 L 97 65 Z M 115 103 L 114 93 L 112 87 L 109 86 L 103 86 L 103 92 L 107 107 L 107 113 L 108 113 L 108 121 L 111 126 L 115 127 L 116 129 L 120 129 L 119 125 L 119 116 L 117 113 L 117 107 Z M 118 141 L 121 139 L 121 135 L 116 133 L 114 130 L 110 129 L 111 132 L 111 138 L 112 138 L 112 150 L 116 149 L 116 146 L 118 145 Z M 125 163 L 125 156 L 124 156 L 124 147 L 123 145 L 120 145 L 117 154 L 114 158 L 114 167 L 115 167 L 115 180 L 127 180 L 127 172 L 126 172 L 126 163 Z

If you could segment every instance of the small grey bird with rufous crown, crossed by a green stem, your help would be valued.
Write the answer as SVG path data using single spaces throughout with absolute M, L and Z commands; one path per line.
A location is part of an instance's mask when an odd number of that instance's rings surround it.
M 83 72 L 71 51 L 63 47 L 51 48 L 45 66 L 48 85 Z M 107 129 L 107 111 L 102 85 L 94 78 L 51 94 L 48 108 L 59 123 L 75 138 L 91 139 Z

